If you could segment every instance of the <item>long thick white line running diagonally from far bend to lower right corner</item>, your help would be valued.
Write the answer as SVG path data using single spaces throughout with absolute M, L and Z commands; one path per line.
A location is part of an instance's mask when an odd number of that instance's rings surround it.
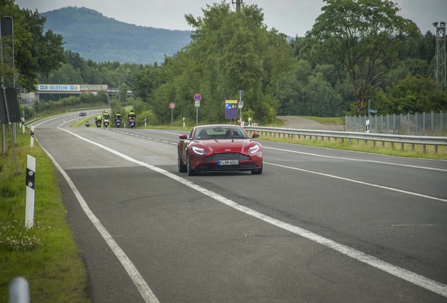
M 358 260 L 360 262 L 368 264 L 372 267 L 375 267 L 376 269 L 385 271 L 388 274 L 391 274 L 393 276 L 401 278 L 401 279 L 408 281 L 410 283 L 413 283 L 415 285 L 419 285 L 420 287 L 430 290 L 432 292 L 435 292 L 438 295 L 447 297 L 447 285 L 445 285 L 445 284 L 442 284 L 442 283 L 439 283 L 432 279 L 426 278 L 425 276 L 415 274 L 412 271 L 408 271 L 401 267 L 396 267 L 392 264 L 389 264 L 387 262 L 379 260 L 376 257 L 372 257 L 371 255 L 367 255 L 365 253 L 362 253 L 361 251 L 355 250 L 354 248 L 350 248 L 349 246 L 343 245 L 341 243 L 337 243 L 335 241 L 332 241 L 332 240 L 325 238 L 323 236 L 320 236 L 318 234 L 314 234 L 313 232 L 308 231 L 306 229 L 296 227 L 292 224 L 288 224 L 288 223 L 282 222 L 280 220 L 277 220 L 273 217 L 269 217 L 268 215 L 264 215 L 263 213 L 259 213 L 256 210 L 252 210 L 251 208 L 247 208 L 246 206 L 242 206 L 242 205 L 236 203 L 235 201 L 232 201 L 224 196 L 221 196 L 220 194 L 217 194 L 214 191 L 210 191 L 209 189 L 200 187 L 200 185 L 190 182 L 189 180 L 186 180 L 183 177 L 179 177 L 178 175 L 169 173 L 167 170 L 164 170 L 157 166 L 153 166 L 151 164 L 133 159 L 130 156 L 127 156 L 127 155 L 117 152 L 113 149 L 110 149 L 109 147 L 105 147 L 104 145 L 98 144 L 98 143 L 93 142 L 89 139 L 81 137 L 75 133 L 70 132 L 69 130 L 65 130 L 63 128 L 60 128 L 60 129 L 64 130 L 67 133 L 74 135 L 75 137 L 78 137 L 81 140 L 84 140 L 86 142 L 96 145 L 97 147 L 105 149 L 106 151 L 111 152 L 112 154 L 120 156 L 123 159 L 127 159 L 128 161 L 137 163 L 140 166 L 144 166 L 145 168 L 149 168 L 151 170 L 154 170 L 157 173 L 165 175 L 166 177 L 169 177 L 173 180 L 176 180 L 177 182 L 180 182 L 181 184 L 186 185 L 187 187 L 190 187 L 191 189 L 195 189 L 196 191 L 199 191 L 200 193 L 205 194 L 206 196 L 209 196 L 210 198 L 213 198 L 216 201 L 224 203 L 226 206 L 230 206 L 231 208 L 239 210 L 242 213 L 245 213 L 247 215 L 255 217 L 259 220 L 263 220 L 264 222 L 273 224 L 276 227 L 280 227 L 281 229 L 285 229 L 285 230 L 290 231 L 294 234 L 297 234 L 298 236 L 302 236 L 304 238 L 307 238 L 307 239 L 314 241 L 316 243 L 319 243 L 321 245 L 325 245 L 326 247 L 332 248 L 333 250 L 336 250 L 337 252 L 342 253 L 343 255 L 352 257 L 355 260 Z

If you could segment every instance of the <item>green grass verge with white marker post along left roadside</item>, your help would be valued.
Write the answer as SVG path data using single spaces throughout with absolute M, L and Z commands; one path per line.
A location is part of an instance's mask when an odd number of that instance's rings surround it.
M 30 133 L 18 132 L 14 154 L 6 126 L 6 153 L 0 155 L 0 302 L 9 283 L 23 276 L 31 302 L 90 302 L 84 263 L 65 220 L 65 207 L 53 163 Z M 0 131 L 1 135 L 1 131 Z M 34 227 L 25 229 L 27 155 L 36 159 Z

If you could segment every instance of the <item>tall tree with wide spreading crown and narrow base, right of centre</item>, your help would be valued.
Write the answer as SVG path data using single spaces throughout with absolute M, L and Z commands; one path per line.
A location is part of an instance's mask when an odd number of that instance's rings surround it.
M 306 38 L 320 58 L 342 64 L 355 91 L 356 114 L 368 105 L 381 77 L 398 59 L 403 39 L 417 36 L 414 22 L 396 15 L 388 0 L 323 0 L 316 23 Z

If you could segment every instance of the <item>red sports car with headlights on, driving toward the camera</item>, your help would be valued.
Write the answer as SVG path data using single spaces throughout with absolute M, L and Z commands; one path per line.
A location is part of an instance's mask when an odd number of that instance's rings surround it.
M 180 173 L 196 175 L 211 170 L 250 170 L 262 173 L 262 146 L 243 128 L 216 124 L 196 126 L 190 135 L 180 135 L 177 164 Z

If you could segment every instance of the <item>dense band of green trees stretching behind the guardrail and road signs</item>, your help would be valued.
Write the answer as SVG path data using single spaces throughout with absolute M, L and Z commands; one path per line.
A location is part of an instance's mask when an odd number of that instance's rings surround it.
M 324 0 L 304 37 L 268 30 L 256 5 L 233 11 L 230 4 L 186 15 L 191 43 L 160 65 L 84 60 L 65 51 L 60 68 L 40 71 L 46 83 L 108 84 L 133 90 L 130 102 L 152 123 L 195 121 L 193 95 L 200 93 L 200 123 L 224 122 L 225 100 L 244 90 L 243 118 L 272 123 L 275 116 L 379 114 L 446 111 L 447 95 L 433 80 L 431 32 L 397 15 L 392 1 Z M 117 107 L 121 106 L 118 104 Z

